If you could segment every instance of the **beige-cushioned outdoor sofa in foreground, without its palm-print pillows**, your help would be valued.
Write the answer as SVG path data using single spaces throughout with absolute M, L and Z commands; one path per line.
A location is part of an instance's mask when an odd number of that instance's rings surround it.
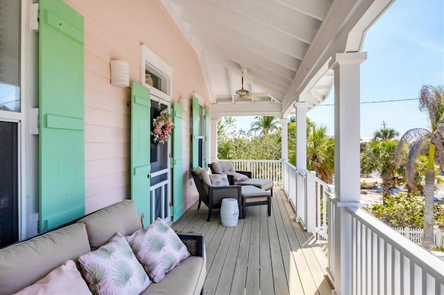
M 149 228 L 151 226 L 147 229 Z M 85 276 L 80 271 L 79 256 L 81 259 L 87 257 L 93 253 L 92 251 L 107 244 L 110 239 L 112 242 L 119 236 L 117 233 L 125 237 L 133 233 L 135 235 L 143 233 L 147 229 L 142 229 L 134 202 L 125 200 L 87 215 L 74 224 L 0 249 L 0 294 L 13 294 L 30 285 L 31 287 L 24 289 L 24 294 L 37 292 L 48 294 L 51 288 L 55 288 L 58 293 L 62 294 L 88 294 Z M 169 231 L 170 234 L 175 234 L 170 228 Z M 178 233 L 178 236 L 191 256 L 167 272 L 159 283 L 150 283 L 146 289 L 137 293 L 199 294 L 203 290 L 206 277 L 203 235 Z M 155 240 L 155 242 L 158 241 Z M 182 248 L 185 249 L 185 247 Z M 85 254 L 87 255 L 84 256 Z M 116 253 L 111 254 L 116 256 Z M 126 251 L 125 256 L 130 257 L 131 251 L 129 253 Z M 137 267 L 140 261 L 136 258 L 133 260 Z M 121 260 L 115 263 L 119 262 Z M 139 278 L 143 270 L 142 267 L 142 271 L 137 272 Z M 116 278 L 112 274 L 112 278 L 121 283 L 121 280 L 118 280 L 121 277 Z

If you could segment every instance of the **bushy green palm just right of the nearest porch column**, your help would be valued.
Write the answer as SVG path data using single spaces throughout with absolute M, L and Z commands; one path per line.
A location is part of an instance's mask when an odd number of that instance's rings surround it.
M 377 170 L 382 178 L 382 195 L 390 194 L 395 186 L 395 151 L 400 133 L 393 128 L 381 128 L 373 134 L 373 139 L 361 150 L 361 172 Z

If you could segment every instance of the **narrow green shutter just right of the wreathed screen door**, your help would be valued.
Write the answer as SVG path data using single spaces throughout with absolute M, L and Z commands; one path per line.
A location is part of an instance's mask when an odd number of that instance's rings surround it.
M 183 214 L 183 146 L 182 146 L 182 105 L 174 102 L 173 105 L 173 222 Z

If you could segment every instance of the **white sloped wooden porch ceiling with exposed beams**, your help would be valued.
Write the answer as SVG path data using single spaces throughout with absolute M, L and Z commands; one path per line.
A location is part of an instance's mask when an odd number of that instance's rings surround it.
M 162 0 L 203 66 L 212 118 L 287 116 L 333 85 L 334 53 L 361 50 L 393 0 Z M 241 71 L 244 89 L 240 98 Z

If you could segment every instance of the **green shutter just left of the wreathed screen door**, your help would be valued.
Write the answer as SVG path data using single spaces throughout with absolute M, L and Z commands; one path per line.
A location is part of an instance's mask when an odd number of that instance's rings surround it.
M 151 222 L 150 144 L 151 144 L 150 90 L 137 82 L 131 84 L 131 199 L 139 215 L 144 213 L 144 224 Z

